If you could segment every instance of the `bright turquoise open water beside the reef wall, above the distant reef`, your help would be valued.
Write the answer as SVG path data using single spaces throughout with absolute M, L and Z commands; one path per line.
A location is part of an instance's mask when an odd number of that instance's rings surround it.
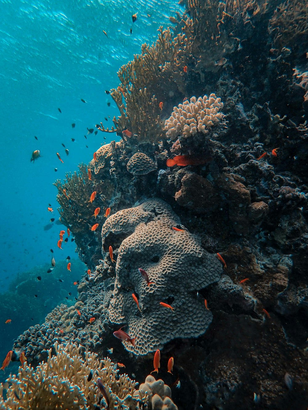
M 168 17 L 183 9 L 171 0 L 1 0 L 0 9 L 2 292 L 18 272 L 50 262 L 50 248 L 56 260 L 77 258 L 74 242 L 57 248 L 61 226 L 44 231 L 51 217 L 59 217 L 53 182 L 89 162 L 104 141 L 119 138 L 87 135 L 87 127 L 100 121 L 111 126 L 118 115 L 105 90 L 117 87 L 120 66 L 141 44 L 152 44 L 159 25 L 166 27 Z M 42 157 L 30 162 L 37 149 Z

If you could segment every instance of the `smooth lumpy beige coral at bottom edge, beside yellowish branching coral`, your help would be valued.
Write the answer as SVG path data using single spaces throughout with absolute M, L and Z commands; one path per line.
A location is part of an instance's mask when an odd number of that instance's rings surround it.
M 145 383 L 140 385 L 139 392 L 149 395 L 153 410 L 178 410 L 171 399 L 170 387 L 161 379 L 155 380 L 153 376 L 147 376 Z

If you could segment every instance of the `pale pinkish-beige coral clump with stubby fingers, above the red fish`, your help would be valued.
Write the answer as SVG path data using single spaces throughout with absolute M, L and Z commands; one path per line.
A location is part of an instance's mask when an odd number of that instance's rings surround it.
M 179 135 L 186 138 L 195 135 L 197 131 L 207 134 L 211 127 L 218 123 L 223 114 L 219 110 L 223 107 L 220 98 L 215 94 L 199 97 L 191 97 L 190 102 L 184 101 L 178 107 L 173 108 L 170 118 L 165 121 L 165 131 L 167 137 L 177 138 Z

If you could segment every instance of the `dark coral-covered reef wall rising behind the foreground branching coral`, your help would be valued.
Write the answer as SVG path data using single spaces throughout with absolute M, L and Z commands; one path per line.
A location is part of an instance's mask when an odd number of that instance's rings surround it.
M 118 73 L 101 130 L 120 141 L 55 183 L 89 268 L 78 302 L 14 347 L 112 346 L 140 380 L 159 348 L 179 409 L 307 408 L 307 8 L 189 0 L 170 21 Z

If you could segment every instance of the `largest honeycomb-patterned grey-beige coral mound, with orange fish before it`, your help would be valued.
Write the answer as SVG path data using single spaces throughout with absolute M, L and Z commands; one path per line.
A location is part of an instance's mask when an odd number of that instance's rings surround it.
M 109 319 L 137 337 L 125 348 L 144 355 L 177 337 L 198 337 L 211 323 L 197 290 L 220 278 L 221 263 L 187 230 L 175 231 L 178 216 L 164 201 L 152 198 L 110 216 L 102 228 L 103 250 L 118 247 L 116 279 Z M 138 268 L 154 285 L 147 286 Z M 138 295 L 138 311 L 132 293 Z M 160 302 L 172 305 L 174 311 Z

